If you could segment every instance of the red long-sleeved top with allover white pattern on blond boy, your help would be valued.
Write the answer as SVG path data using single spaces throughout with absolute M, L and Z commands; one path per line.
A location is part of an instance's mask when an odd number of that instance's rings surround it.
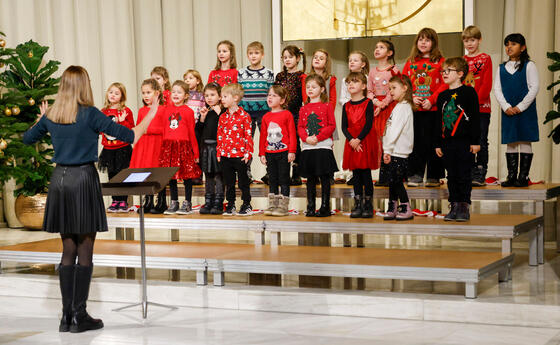
M 224 112 L 218 121 L 217 140 L 218 158 L 251 158 L 253 154 L 251 116 L 241 107 L 233 114 L 229 110 Z

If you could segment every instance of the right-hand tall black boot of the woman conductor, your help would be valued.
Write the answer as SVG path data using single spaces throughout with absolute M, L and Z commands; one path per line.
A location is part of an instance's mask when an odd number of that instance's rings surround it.
M 81 333 L 103 328 L 103 321 L 92 318 L 86 311 L 92 272 L 93 266 L 75 266 L 71 333 Z

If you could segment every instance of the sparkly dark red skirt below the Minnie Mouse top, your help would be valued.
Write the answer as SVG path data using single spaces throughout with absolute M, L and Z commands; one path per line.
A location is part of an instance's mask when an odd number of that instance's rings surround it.
M 159 157 L 160 167 L 179 167 L 175 180 L 190 180 L 200 177 L 201 170 L 194 160 L 192 146 L 188 140 L 164 140 Z

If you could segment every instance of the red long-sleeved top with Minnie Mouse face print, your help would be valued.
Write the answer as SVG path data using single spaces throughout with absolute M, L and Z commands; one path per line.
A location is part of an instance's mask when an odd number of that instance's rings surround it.
M 198 158 L 198 142 L 194 132 L 194 112 L 184 104 L 168 105 L 163 117 L 163 140 L 188 141 L 195 158 Z

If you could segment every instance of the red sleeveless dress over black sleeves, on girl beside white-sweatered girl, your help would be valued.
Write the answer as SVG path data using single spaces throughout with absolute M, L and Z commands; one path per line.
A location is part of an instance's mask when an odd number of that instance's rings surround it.
M 353 138 L 357 138 L 360 135 L 366 124 L 366 109 L 368 108 L 368 104 L 371 104 L 370 111 L 373 111 L 373 102 L 369 98 L 364 98 L 362 101 L 359 101 L 359 103 L 349 101 L 344 105 L 348 126 L 347 130 Z M 381 145 L 373 126 L 361 141 L 361 145 L 362 151 L 358 152 L 350 146 L 350 142 L 346 139 L 342 160 L 343 169 L 379 169 Z

